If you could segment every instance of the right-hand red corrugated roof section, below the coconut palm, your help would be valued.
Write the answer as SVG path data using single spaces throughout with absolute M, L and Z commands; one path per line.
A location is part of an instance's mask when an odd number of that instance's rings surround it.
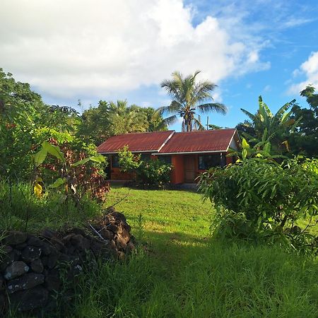
M 180 132 L 160 149 L 160 153 L 192 153 L 227 151 L 235 129 Z

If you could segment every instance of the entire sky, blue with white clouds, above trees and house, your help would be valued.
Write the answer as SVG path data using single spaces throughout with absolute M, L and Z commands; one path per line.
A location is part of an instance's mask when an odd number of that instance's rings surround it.
M 235 126 L 256 112 L 258 96 L 273 111 L 308 83 L 318 88 L 318 1 L 3 0 L 0 61 L 49 104 L 84 108 L 98 100 L 160 107 L 160 81 L 172 71 L 201 70 L 218 85 Z M 12 16 L 11 12 L 15 12 Z M 25 14 L 28 12 L 28 14 Z M 206 122 L 206 117 L 202 117 Z M 180 129 L 181 124 L 171 126 Z

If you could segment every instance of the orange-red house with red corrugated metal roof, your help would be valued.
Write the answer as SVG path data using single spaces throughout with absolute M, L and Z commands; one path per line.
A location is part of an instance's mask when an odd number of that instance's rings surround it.
M 210 167 L 232 163 L 226 157 L 229 148 L 237 149 L 239 136 L 236 129 L 204 131 L 154 131 L 112 136 L 98 147 L 98 152 L 107 155 L 110 166 L 108 175 L 112 180 L 131 179 L 121 172 L 118 151 L 128 146 L 129 151 L 141 154 L 142 159 L 159 158 L 173 165 L 171 183 L 195 182 L 199 173 Z

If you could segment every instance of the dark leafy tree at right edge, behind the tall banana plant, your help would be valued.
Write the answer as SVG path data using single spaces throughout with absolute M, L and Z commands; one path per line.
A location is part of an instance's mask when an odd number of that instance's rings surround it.
M 318 157 L 318 94 L 314 94 L 314 87 L 307 86 L 300 95 L 307 99 L 310 108 L 293 107 L 293 117 L 300 119 L 290 145 L 295 154 Z

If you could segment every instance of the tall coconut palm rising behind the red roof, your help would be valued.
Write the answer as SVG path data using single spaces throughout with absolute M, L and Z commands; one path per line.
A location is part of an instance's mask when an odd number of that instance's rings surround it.
M 178 117 L 181 117 L 182 131 L 204 129 L 200 116 L 196 117 L 196 112 L 225 114 L 228 111 L 225 105 L 213 102 L 211 92 L 216 88 L 216 84 L 210 81 L 196 81 L 199 73 L 200 71 L 196 71 L 194 75 L 184 77 L 182 73 L 175 71 L 172 73 L 172 80 L 165 80 L 161 83 L 161 87 L 165 88 L 172 98 L 169 106 L 160 107 L 156 112 L 161 116 L 170 114 L 169 117 L 163 119 L 166 124 L 173 124 Z

